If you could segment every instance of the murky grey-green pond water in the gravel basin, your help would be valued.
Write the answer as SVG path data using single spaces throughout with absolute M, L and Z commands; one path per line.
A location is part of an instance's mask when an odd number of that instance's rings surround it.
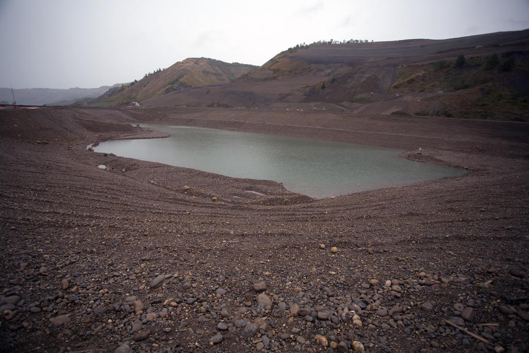
M 404 152 L 399 149 L 189 126 L 141 126 L 171 137 L 107 141 L 94 150 L 238 178 L 275 180 L 315 198 L 466 174 L 463 169 L 398 158 Z

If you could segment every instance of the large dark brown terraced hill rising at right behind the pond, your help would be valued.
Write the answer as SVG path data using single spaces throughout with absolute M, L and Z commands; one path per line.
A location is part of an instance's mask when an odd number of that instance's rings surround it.
M 456 68 L 459 55 L 466 63 Z M 493 55 L 499 62 L 489 68 Z M 229 85 L 169 93 L 142 104 L 291 108 L 294 103 L 299 109 L 525 120 L 528 58 L 529 30 L 446 40 L 311 44 L 281 52 Z

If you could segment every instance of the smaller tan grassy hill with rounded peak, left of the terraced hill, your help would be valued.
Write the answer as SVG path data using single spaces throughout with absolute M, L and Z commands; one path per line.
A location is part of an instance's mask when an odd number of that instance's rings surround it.
M 108 90 L 83 105 L 118 105 L 161 96 L 192 87 L 224 85 L 257 66 L 208 58 L 188 58 L 167 69 L 145 75 L 141 80 Z

